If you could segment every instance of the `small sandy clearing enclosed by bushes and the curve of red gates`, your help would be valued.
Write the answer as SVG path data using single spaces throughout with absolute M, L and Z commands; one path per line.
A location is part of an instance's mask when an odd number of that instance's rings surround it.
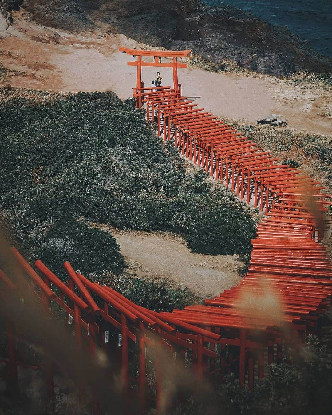
M 213 298 L 242 280 L 237 269 L 243 263 L 234 256 L 194 254 L 181 238 L 169 234 L 101 228 L 110 230 L 129 271 L 138 276 L 167 277 L 176 284 L 184 283 L 203 298 Z

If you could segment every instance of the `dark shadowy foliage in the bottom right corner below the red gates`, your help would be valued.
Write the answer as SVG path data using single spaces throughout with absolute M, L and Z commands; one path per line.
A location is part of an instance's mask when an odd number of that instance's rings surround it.
M 309 335 L 308 343 L 288 361 L 269 366 L 253 392 L 239 387 L 231 374 L 217 390 L 188 398 L 172 415 L 330 415 L 331 346 L 331 339 L 320 342 Z

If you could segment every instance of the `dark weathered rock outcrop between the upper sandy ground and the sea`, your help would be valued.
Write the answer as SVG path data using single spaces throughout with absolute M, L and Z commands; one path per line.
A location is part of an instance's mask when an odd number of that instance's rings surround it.
M 211 8 L 198 0 L 24 0 L 22 7 L 45 26 L 120 32 L 151 46 L 193 49 L 216 63 L 229 60 L 252 71 L 332 71 L 332 61 L 316 54 L 310 42 L 232 6 Z

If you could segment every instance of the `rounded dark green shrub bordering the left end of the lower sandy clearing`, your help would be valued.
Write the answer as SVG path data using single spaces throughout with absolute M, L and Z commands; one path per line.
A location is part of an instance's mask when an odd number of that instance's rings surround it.
M 118 274 L 125 268 L 120 247 L 111 234 L 90 228 L 84 218 L 37 220 L 16 207 L 0 212 L 0 229 L 30 263 L 41 259 L 61 279 L 67 278 L 65 261 L 86 276 L 104 270 Z

